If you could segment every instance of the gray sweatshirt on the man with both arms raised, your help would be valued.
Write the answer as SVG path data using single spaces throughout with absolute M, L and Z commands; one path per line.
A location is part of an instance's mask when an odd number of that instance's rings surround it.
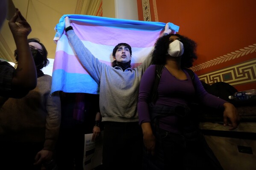
M 121 67 L 108 66 L 95 58 L 77 37 L 74 30 L 69 30 L 67 35 L 79 61 L 94 81 L 100 85 L 102 121 L 138 121 L 138 88 L 142 74 L 151 64 L 151 56 L 147 57 L 140 66 L 123 71 Z

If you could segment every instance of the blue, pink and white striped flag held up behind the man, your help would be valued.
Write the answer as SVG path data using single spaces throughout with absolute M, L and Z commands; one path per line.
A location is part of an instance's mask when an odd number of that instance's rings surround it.
M 56 25 L 57 43 L 53 64 L 52 90 L 63 92 L 83 92 L 99 94 L 98 84 L 91 78 L 79 62 L 74 49 L 68 41 L 65 17 L 82 43 L 101 62 L 111 65 L 112 51 L 118 43 L 128 43 L 132 47 L 132 66 L 136 67 L 150 55 L 154 43 L 164 29 L 165 23 L 137 20 L 124 20 L 88 15 L 63 15 Z M 173 25 L 178 32 L 179 26 Z

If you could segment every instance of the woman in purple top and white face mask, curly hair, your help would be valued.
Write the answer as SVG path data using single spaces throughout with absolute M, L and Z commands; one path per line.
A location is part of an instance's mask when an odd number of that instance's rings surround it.
M 153 51 L 153 65 L 141 78 L 138 97 L 139 124 L 145 146 L 144 169 L 223 170 L 197 127 L 191 103 L 224 110 L 224 125 L 238 127 L 235 107 L 203 88 L 188 69 L 197 59 L 197 44 L 187 37 L 160 37 Z

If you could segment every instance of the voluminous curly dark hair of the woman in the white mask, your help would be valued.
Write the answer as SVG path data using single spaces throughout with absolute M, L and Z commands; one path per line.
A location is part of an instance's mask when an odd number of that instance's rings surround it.
M 170 44 L 169 37 L 172 35 L 174 34 L 162 36 L 156 41 L 154 51 L 152 52 L 153 64 L 162 65 L 166 63 L 166 54 L 168 54 Z M 181 67 L 189 68 L 193 66 L 194 60 L 197 59 L 197 43 L 188 37 L 179 34 L 175 35 L 180 38 L 179 41 L 182 42 L 184 46 L 184 53 L 181 56 Z

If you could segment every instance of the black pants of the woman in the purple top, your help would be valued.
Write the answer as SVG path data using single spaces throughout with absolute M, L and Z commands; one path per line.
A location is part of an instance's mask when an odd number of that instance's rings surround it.
M 145 153 L 147 170 L 223 170 L 200 132 L 179 135 L 159 130 L 156 155 Z

